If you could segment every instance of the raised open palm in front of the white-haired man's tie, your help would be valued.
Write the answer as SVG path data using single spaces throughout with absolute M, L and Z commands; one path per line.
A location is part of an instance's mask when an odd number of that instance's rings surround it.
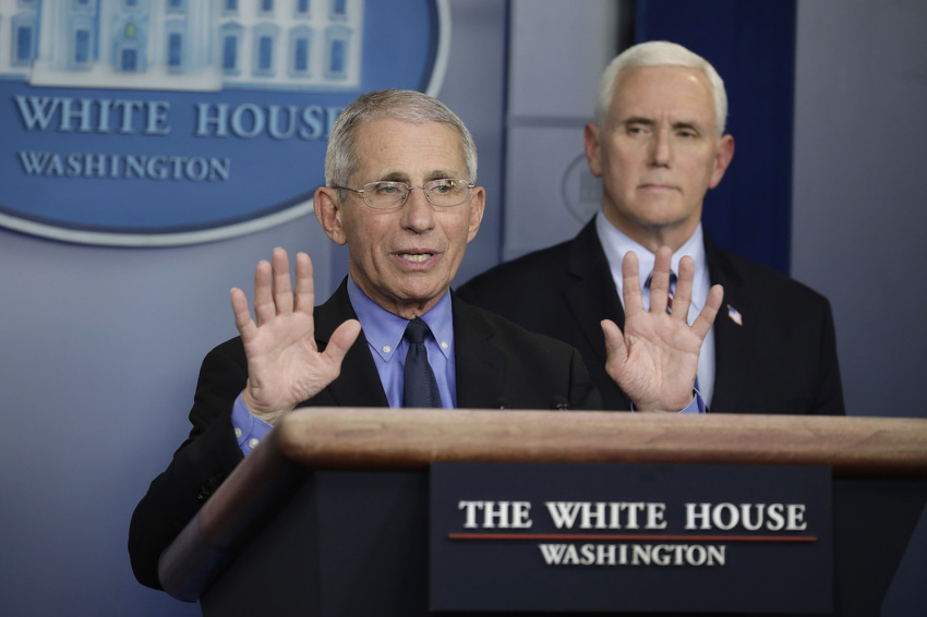
M 712 287 L 705 306 L 689 326 L 686 316 L 691 302 L 695 263 L 690 257 L 683 257 L 670 314 L 666 306 L 671 258 L 669 246 L 661 246 L 657 252 L 648 312 L 643 310 L 637 255 L 626 253 L 622 262 L 624 332 L 611 319 L 602 322 L 605 371 L 638 411 L 676 412 L 691 402 L 701 341 L 711 329 L 724 295 L 721 286 Z

